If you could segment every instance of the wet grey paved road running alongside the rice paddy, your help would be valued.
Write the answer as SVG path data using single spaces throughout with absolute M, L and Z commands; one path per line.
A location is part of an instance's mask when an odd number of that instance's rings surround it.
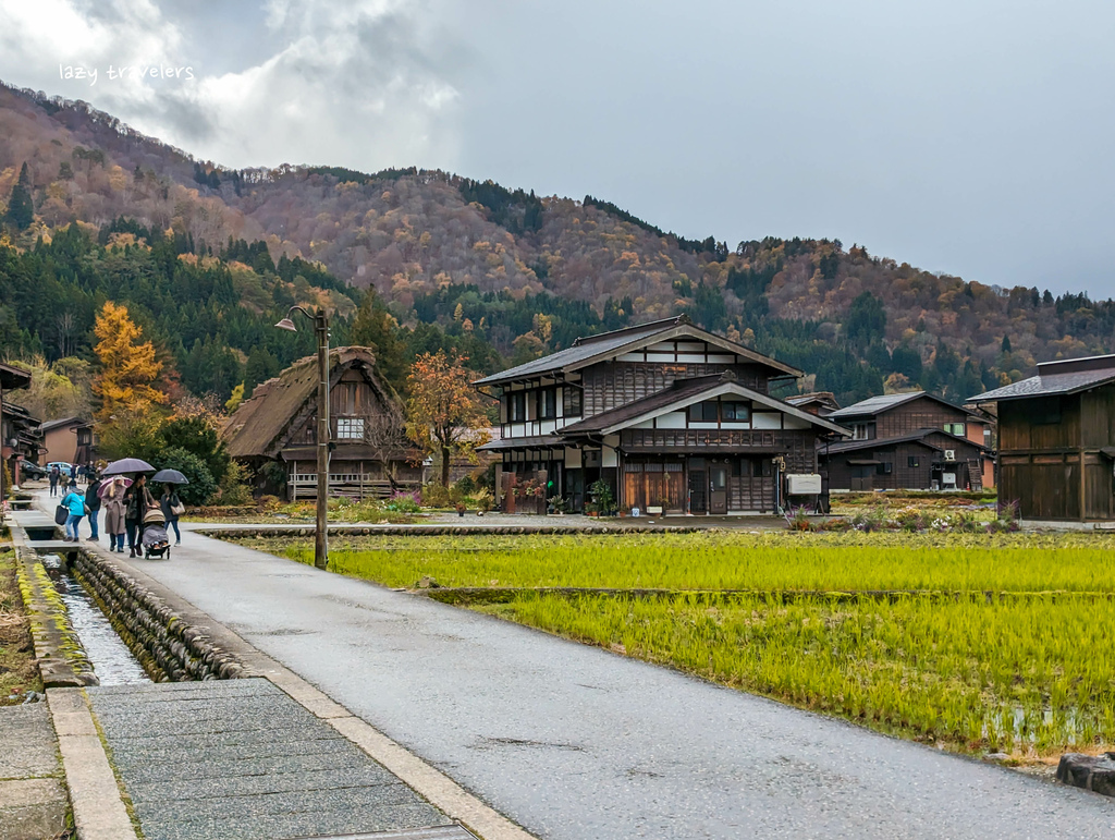
M 133 562 L 546 840 L 1115 831 L 1095 794 L 200 534 Z

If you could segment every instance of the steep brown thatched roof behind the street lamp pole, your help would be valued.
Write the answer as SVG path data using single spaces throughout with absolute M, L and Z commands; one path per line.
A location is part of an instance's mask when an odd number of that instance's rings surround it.
M 367 347 L 338 347 L 329 353 L 330 388 L 350 368 L 359 369 L 382 399 L 384 409 L 403 426 L 398 397 L 375 374 L 376 357 Z M 299 359 L 273 379 L 255 386 L 250 399 L 225 423 L 221 435 L 233 457 L 277 457 L 297 426 L 313 413 L 318 357 Z

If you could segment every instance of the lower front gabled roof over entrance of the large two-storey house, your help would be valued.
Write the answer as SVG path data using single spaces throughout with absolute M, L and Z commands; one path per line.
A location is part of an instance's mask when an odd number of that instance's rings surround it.
M 735 376 L 729 374 L 714 374 L 711 376 L 696 376 L 689 379 L 676 379 L 673 385 L 649 397 L 636 399 L 618 408 L 594 414 L 583 421 L 572 423 L 561 428 L 556 434 L 561 437 L 571 437 L 585 434 L 612 434 L 621 428 L 628 428 L 637 423 L 657 417 L 660 414 L 685 408 L 694 403 L 704 399 L 711 399 L 718 396 L 735 395 L 758 403 L 768 408 L 788 414 L 792 417 L 806 421 L 814 426 L 821 426 L 830 432 L 841 435 L 849 435 L 846 428 L 831 423 L 824 417 L 803 412 L 801 408 L 776 399 L 766 394 L 740 385 Z

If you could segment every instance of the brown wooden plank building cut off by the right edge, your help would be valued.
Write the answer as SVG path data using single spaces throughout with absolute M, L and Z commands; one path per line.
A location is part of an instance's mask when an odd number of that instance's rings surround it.
M 1115 356 L 1038 365 L 971 398 L 999 416 L 999 499 L 1030 520 L 1115 519 Z

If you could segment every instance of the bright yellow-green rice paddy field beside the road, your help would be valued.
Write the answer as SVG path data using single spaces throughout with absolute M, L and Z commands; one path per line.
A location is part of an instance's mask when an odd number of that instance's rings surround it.
M 312 562 L 306 541 L 246 542 Z M 1115 744 L 1107 535 L 363 537 L 330 562 L 960 752 Z

